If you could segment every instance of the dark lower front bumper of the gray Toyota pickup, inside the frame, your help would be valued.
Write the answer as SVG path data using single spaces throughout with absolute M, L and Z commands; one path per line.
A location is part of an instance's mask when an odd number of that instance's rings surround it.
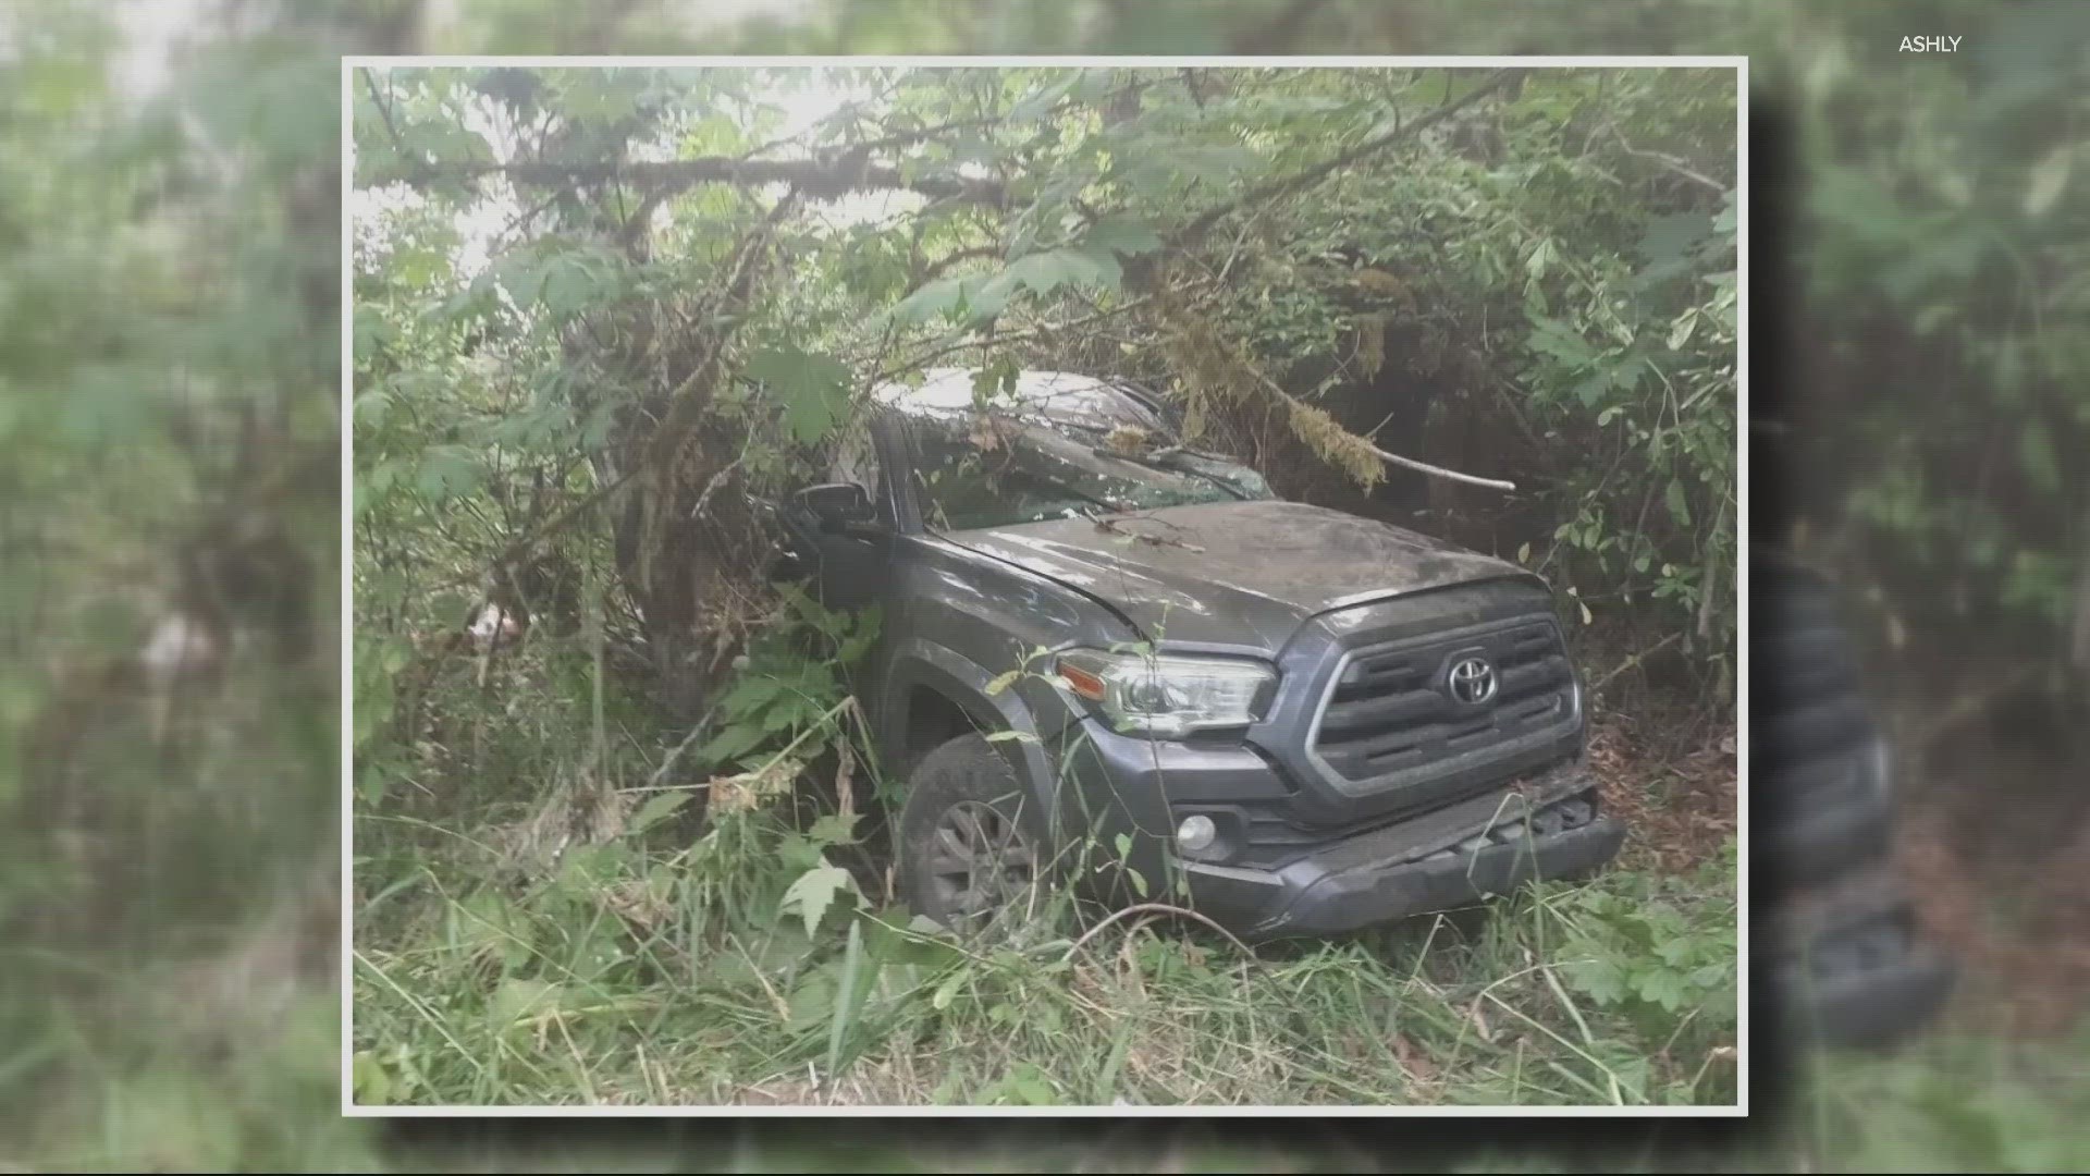
M 1271 940 L 1336 935 L 1509 894 L 1532 879 L 1570 879 L 1618 856 L 1626 829 L 1599 816 L 1580 770 L 1549 772 L 1545 789 L 1492 791 L 1254 870 L 1179 860 L 1191 904 Z

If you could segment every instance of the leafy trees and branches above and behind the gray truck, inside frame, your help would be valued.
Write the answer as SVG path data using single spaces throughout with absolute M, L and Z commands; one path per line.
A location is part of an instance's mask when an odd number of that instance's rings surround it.
M 1379 450 L 1515 473 L 1511 506 L 1440 513 L 1486 515 L 1582 619 L 1651 601 L 1731 672 L 1733 73 L 500 67 L 353 94 L 370 621 L 449 621 L 433 588 L 477 575 L 571 632 L 579 565 L 614 552 L 610 640 L 694 718 L 692 642 L 717 665 L 765 615 L 744 496 L 936 362 L 1143 379 L 1308 494 L 1384 483 Z M 1379 513 L 1421 506 L 1396 490 Z M 374 716 L 399 630 L 359 634 Z

